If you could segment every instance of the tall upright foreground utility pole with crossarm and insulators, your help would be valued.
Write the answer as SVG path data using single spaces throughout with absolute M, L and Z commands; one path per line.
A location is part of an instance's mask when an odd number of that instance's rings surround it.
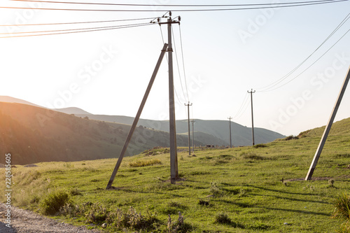
M 163 16 L 165 17 L 165 16 Z M 173 74 L 173 48 L 172 48 L 172 24 L 180 24 L 172 20 L 172 12 L 169 11 L 167 22 L 159 24 L 168 25 L 168 57 L 169 57 L 169 133 L 170 133 L 170 183 L 174 184 L 179 179 L 176 146 L 176 123 L 175 123 L 175 101 L 174 101 L 174 74 Z

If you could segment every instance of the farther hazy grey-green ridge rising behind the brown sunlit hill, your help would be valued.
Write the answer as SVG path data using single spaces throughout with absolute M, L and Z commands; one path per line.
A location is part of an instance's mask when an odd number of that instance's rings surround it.
M 81 115 L 88 116 L 94 120 L 104 120 L 106 122 L 120 122 L 123 124 L 131 125 L 134 118 L 123 115 Z M 162 130 L 169 132 L 169 122 L 167 120 L 145 120 L 140 119 L 139 125 L 145 127 Z M 191 126 L 192 127 L 192 126 Z M 191 128 L 192 129 L 192 128 Z M 239 125 L 235 122 L 231 122 L 232 130 L 232 143 L 235 146 L 250 146 L 251 145 L 251 128 Z M 218 139 L 221 139 L 225 145 L 230 145 L 230 128 L 228 120 L 197 120 L 195 119 L 195 131 L 203 132 L 205 134 L 211 134 Z M 187 120 L 176 120 L 176 133 L 183 134 L 188 132 Z M 273 132 L 268 129 L 262 129 L 255 127 L 255 144 L 268 143 L 275 139 L 281 139 L 284 136 L 277 132 Z M 209 143 L 215 144 L 215 143 Z

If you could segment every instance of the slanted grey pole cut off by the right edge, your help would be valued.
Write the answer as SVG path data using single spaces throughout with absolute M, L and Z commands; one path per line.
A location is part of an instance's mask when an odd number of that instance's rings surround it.
M 325 145 L 325 141 L 327 140 L 327 136 L 328 136 L 328 134 L 330 132 L 330 128 L 332 127 L 335 115 L 337 115 L 337 111 L 338 111 L 340 103 L 342 102 L 342 98 L 344 96 L 344 92 L 346 90 L 346 86 L 349 83 L 349 79 L 350 79 L 350 67 L 349 67 L 348 73 L 347 73 L 347 75 L 346 75 L 346 77 L 344 79 L 344 83 L 342 85 L 342 89 L 339 92 L 339 95 L 338 95 L 338 98 L 337 98 L 337 102 L 335 103 L 335 106 L 334 106 L 334 108 L 332 110 L 332 114 L 330 115 L 330 118 L 328 120 L 328 124 L 325 127 L 325 131 L 323 132 L 321 141 L 318 144 L 318 148 L 317 148 L 316 153 L 314 155 L 314 160 L 312 160 L 312 162 L 311 162 L 311 166 L 309 167 L 309 171 L 307 172 L 307 176 L 305 177 L 305 181 L 310 181 L 311 177 L 312 177 L 312 174 L 314 174 L 314 170 L 316 168 L 316 164 L 318 162 L 318 158 L 320 157 L 320 155 L 322 153 L 323 146 Z

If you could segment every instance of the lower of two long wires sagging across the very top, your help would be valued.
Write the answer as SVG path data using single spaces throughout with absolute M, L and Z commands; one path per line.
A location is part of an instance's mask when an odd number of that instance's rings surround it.
M 225 10 L 259 10 L 266 8 L 287 8 L 287 7 L 295 7 L 295 6 L 313 6 L 320 4 L 328 4 L 328 3 L 338 3 L 349 0 L 332 0 L 332 1 L 320 1 L 320 2 L 307 2 L 307 3 L 299 3 L 295 5 L 283 5 L 283 6 L 261 6 L 261 7 L 246 7 L 246 8 L 216 8 L 216 9 L 179 9 L 179 10 L 170 10 L 173 12 L 199 12 L 199 11 L 225 11 Z M 130 9 L 72 9 L 72 8 L 29 8 L 29 7 L 13 7 L 13 6 L 0 6 L 3 9 L 29 9 L 29 10 L 69 10 L 69 11 L 102 11 L 102 12 L 161 12 L 164 10 L 130 10 Z

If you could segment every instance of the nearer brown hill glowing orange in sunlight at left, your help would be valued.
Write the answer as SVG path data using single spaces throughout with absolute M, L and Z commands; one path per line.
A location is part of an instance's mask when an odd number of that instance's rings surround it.
M 129 131 L 130 125 L 0 102 L 0 147 L 4 153 L 13 154 L 13 164 L 118 157 Z M 136 155 L 155 146 L 169 146 L 168 135 L 137 127 L 127 155 Z M 187 136 L 180 135 L 177 141 L 179 146 L 188 143 Z M 0 163 L 4 160 L 1 157 Z

